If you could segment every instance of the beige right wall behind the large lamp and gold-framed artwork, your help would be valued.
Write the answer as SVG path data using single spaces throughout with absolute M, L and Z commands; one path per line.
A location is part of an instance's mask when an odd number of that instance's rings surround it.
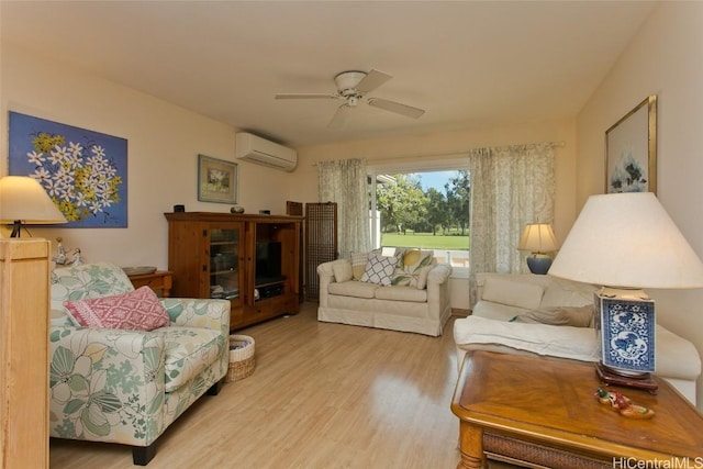
M 577 120 L 577 204 L 604 191 L 605 130 L 658 96 L 657 196 L 703 256 L 703 3 L 661 2 Z M 703 290 L 650 291 L 658 321 L 703 355 Z M 703 410 L 703 378 L 699 380 Z

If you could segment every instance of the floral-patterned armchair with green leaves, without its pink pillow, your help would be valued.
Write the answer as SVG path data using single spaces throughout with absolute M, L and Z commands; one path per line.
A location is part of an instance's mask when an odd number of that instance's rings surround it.
M 135 465 L 202 394 L 216 394 L 228 367 L 230 302 L 160 299 L 170 325 L 154 331 L 74 325 L 65 301 L 129 293 L 112 264 L 52 273 L 51 436 L 133 447 Z

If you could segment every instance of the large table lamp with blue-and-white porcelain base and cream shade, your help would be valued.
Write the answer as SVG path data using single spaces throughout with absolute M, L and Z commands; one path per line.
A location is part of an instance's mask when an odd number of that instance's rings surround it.
M 643 289 L 701 288 L 703 264 L 655 194 L 591 196 L 549 275 L 602 287 L 594 293 L 601 379 L 656 390 L 655 302 Z

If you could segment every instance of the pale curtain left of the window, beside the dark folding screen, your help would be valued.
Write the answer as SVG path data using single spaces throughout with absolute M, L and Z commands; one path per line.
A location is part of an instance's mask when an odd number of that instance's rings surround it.
M 341 258 L 371 249 L 368 190 L 366 160 L 317 163 L 319 201 L 337 203 L 337 248 Z

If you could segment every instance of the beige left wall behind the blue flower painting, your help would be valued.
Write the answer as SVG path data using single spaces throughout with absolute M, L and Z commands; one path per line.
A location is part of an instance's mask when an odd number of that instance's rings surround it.
M 8 112 L 47 119 L 127 139 L 129 227 L 31 228 L 34 236 L 64 238 L 87 260 L 121 266 L 168 266 L 164 212 L 228 212 L 198 202 L 198 154 L 234 160 L 235 129 L 152 96 L 2 43 L 0 81 L 0 176 L 8 167 Z M 239 163 L 238 200 L 247 212 L 284 213 L 292 175 Z M 7 234 L 7 233 L 5 233 Z M 54 246 L 55 249 L 55 246 Z

